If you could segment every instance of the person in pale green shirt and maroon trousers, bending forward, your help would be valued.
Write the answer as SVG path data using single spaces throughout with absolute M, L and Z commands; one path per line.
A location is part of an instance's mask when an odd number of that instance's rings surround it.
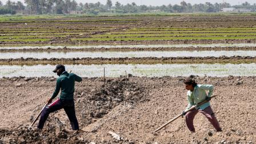
M 185 79 L 184 83 L 186 85 L 186 89 L 189 90 L 187 91 L 187 101 L 189 102 L 189 105 L 187 105 L 186 110 L 190 109 L 193 105 L 197 105 L 199 102 L 211 99 L 211 95 L 213 94 L 213 85 L 198 85 L 195 82 L 195 79 L 191 77 Z M 209 93 L 206 94 L 206 91 L 209 91 Z M 217 131 L 222 131 L 218 120 L 211 109 L 210 102 L 207 102 L 187 113 L 183 111 L 183 115 L 186 115 L 187 127 L 191 132 L 195 132 L 193 119 L 198 112 L 205 115 Z

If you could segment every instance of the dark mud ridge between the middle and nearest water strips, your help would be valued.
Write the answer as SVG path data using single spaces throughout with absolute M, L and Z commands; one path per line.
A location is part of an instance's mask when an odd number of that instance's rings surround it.
M 256 57 L 142 57 L 142 58 L 9 58 L 0 59 L 0 65 L 102 65 L 102 64 L 157 64 L 157 63 L 253 63 Z

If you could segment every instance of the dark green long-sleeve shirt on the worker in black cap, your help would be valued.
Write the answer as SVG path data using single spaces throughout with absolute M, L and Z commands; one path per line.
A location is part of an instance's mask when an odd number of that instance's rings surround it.
M 64 71 L 59 78 L 57 78 L 56 88 L 51 96 L 51 99 L 57 97 L 59 90 L 61 90 L 60 99 L 74 99 L 75 81 L 81 82 L 82 78 L 73 73 Z

